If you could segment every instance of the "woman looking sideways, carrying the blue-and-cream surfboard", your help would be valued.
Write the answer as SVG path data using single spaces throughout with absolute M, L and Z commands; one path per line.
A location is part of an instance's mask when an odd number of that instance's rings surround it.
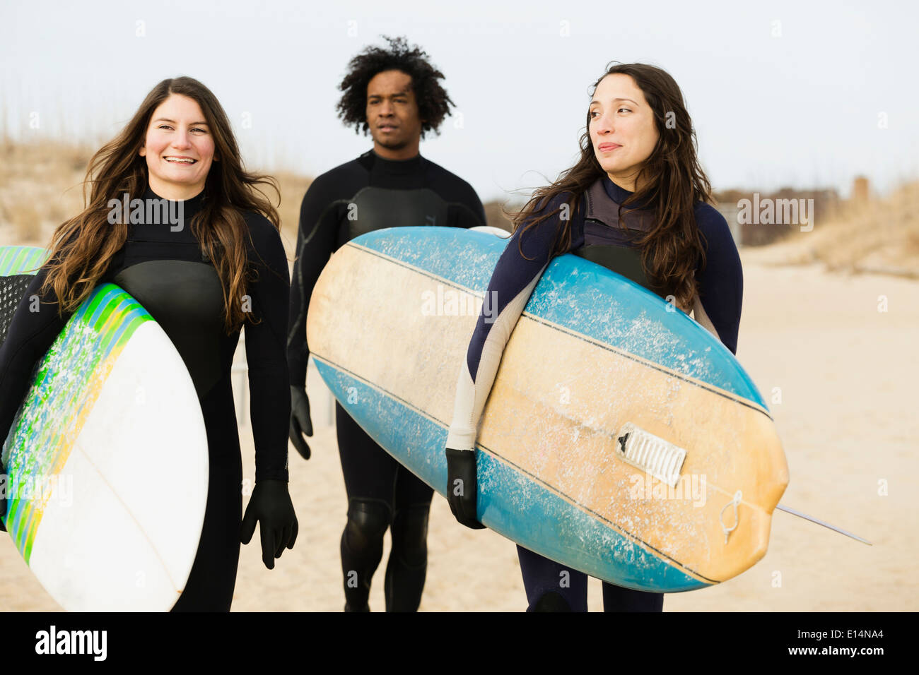
M 736 352 L 740 257 L 727 222 L 708 203 L 695 136 L 679 87 L 660 68 L 618 64 L 594 84 L 580 159 L 516 213 L 486 293 L 497 298 L 497 318 L 480 315 L 460 368 L 446 450 L 448 501 L 459 523 L 482 527 L 476 429 L 505 343 L 552 257 L 575 253 L 629 277 L 693 311 Z M 452 489 L 457 480 L 464 489 Z M 521 546 L 517 553 L 530 611 L 586 611 L 584 573 Z M 659 612 L 664 605 L 663 593 L 607 582 L 603 599 L 607 612 Z

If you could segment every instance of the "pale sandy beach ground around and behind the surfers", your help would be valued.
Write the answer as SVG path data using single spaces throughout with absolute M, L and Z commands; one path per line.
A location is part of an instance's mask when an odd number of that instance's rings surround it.
M 719 586 L 667 595 L 664 611 L 919 610 L 913 580 L 919 499 L 909 485 L 919 469 L 919 422 L 912 410 L 919 381 L 919 282 L 844 276 L 813 264 L 771 266 L 746 250 L 742 257 L 737 355 L 769 402 L 785 447 L 790 483 L 782 503 L 873 546 L 777 512 L 766 557 Z M 879 311 L 885 301 L 887 310 Z M 312 459 L 305 462 L 290 449 L 300 536 L 272 571 L 261 562 L 257 534 L 243 547 L 233 611 L 337 612 L 344 606 L 338 546 L 345 487 L 328 395 L 312 366 L 308 384 L 316 427 Z M 248 423 L 240 438 L 251 480 Z M 422 611 L 526 608 L 514 545 L 488 530 L 460 526 L 437 495 L 428 547 Z M 370 595 L 374 611 L 384 607 L 387 556 L 388 542 Z M 602 609 L 596 579 L 589 605 Z M 59 609 L 11 540 L 0 537 L 0 610 Z

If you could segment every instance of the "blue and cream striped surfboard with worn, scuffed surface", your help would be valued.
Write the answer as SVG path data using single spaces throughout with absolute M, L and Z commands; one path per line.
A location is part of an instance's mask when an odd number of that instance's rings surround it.
M 459 367 L 505 244 L 450 228 L 370 232 L 313 290 L 307 338 L 324 381 L 441 494 Z M 703 588 L 754 565 L 788 483 L 766 402 L 731 352 L 573 255 L 550 263 L 511 334 L 477 458 L 482 523 L 646 591 Z

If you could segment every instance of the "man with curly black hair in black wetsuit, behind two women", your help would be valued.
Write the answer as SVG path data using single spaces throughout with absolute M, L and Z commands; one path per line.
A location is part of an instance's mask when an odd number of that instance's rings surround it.
M 306 313 L 312 288 L 329 256 L 365 232 L 407 225 L 471 228 L 485 224 L 472 187 L 419 153 L 425 133 L 437 134 L 449 115 L 443 73 L 405 39 L 386 38 L 348 64 L 339 85 L 338 117 L 369 131 L 373 148 L 317 177 L 303 197 L 297 259 L 290 287 L 290 441 L 308 459 L 312 435 L 306 396 Z M 427 568 L 427 515 L 433 490 L 376 444 L 335 403 L 338 452 L 348 498 L 341 539 L 345 611 L 368 612 L 370 580 L 391 528 L 386 568 L 387 612 L 414 612 Z

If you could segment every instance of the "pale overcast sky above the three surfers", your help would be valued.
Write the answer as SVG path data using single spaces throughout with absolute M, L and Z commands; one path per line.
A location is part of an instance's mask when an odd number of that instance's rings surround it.
M 321 174 L 371 146 L 335 117 L 348 60 L 403 35 L 457 105 L 421 152 L 483 201 L 573 163 L 610 61 L 674 76 L 716 189 L 847 196 L 866 174 L 884 193 L 919 175 L 917 19 L 915 3 L 874 0 L 0 0 L 0 122 L 17 138 L 107 139 L 154 84 L 187 74 L 221 100 L 250 168 Z

